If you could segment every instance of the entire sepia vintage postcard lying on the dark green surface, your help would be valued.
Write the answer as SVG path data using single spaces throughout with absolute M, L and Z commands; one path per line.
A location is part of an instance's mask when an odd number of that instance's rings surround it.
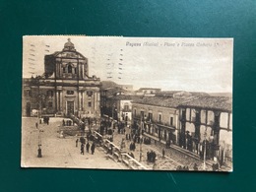
M 232 38 L 27 35 L 22 167 L 232 171 Z

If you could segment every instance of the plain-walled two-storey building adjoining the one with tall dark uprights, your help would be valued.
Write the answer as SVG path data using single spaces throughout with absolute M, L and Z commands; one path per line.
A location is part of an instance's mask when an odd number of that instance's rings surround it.
M 154 140 L 177 144 L 180 98 L 144 97 L 132 102 L 133 124 Z

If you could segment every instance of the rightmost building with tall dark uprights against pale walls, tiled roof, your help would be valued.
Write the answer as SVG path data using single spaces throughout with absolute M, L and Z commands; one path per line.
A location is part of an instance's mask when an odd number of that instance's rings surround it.
M 199 96 L 179 106 L 179 146 L 207 159 L 232 160 L 232 99 Z

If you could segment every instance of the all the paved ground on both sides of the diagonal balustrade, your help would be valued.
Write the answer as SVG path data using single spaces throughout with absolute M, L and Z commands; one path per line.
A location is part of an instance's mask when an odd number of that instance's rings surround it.
M 35 128 L 35 123 L 38 119 L 35 117 L 23 118 L 23 136 L 22 136 L 22 166 L 23 167 L 69 167 L 69 168 L 102 168 L 102 169 L 129 169 L 127 164 L 120 160 L 115 160 L 113 157 L 106 154 L 105 149 L 96 147 L 94 155 L 86 153 L 81 155 L 80 142 L 76 147 L 77 136 L 67 136 L 60 138 L 59 130 L 63 118 L 50 118 L 49 125 L 42 123 L 38 124 L 39 130 Z M 94 126 L 94 130 L 97 127 Z M 130 134 L 131 129 L 126 128 L 126 134 Z M 199 170 L 204 170 L 202 160 L 197 160 L 189 153 L 180 152 L 178 147 L 165 149 L 164 144 L 153 142 L 150 145 L 144 143 L 136 143 L 136 149 L 130 151 L 130 140 L 127 140 L 125 134 L 117 133 L 114 130 L 113 143 L 121 148 L 122 140 L 125 145 L 122 151 L 133 153 L 134 159 L 140 161 L 148 170 L 176 170 L 178 166 L 188 166 L 189 170 L 193 170 L 195 163 Z M 42 158 L 37 158 L 38 145 L 41 144 Z M 92 145 L 92 141 L 90 141 Z M 177 148 L 177 149 L 175 149 Z M 162 157 L 162 149 L 164 149 L 164 157 Z M 147 153 L 155 152 L 156 161 L 149 162 Z M 142 154 L 141 160 L 140 156 Z M 211 170 L 209 162 L 206 165 L 206 170 Z

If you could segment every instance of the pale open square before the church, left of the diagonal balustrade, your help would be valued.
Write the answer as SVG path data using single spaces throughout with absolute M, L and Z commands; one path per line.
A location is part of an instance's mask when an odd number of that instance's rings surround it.
M 126 168 L 121 162 L 109 159 L 101 148 L 96 148 L 95 155 L 88 153 L 81 155 L 80 144 L 76 148 L 76 137 L 59 138 L 57 131 L 62 119 L 50 118 L 49 125 L 38 125 L 43 132 L 41 132 L 42 158 L 37 158 L 38 129 L 35 128 L 37 118 L 23 118 L 23 167 Z

